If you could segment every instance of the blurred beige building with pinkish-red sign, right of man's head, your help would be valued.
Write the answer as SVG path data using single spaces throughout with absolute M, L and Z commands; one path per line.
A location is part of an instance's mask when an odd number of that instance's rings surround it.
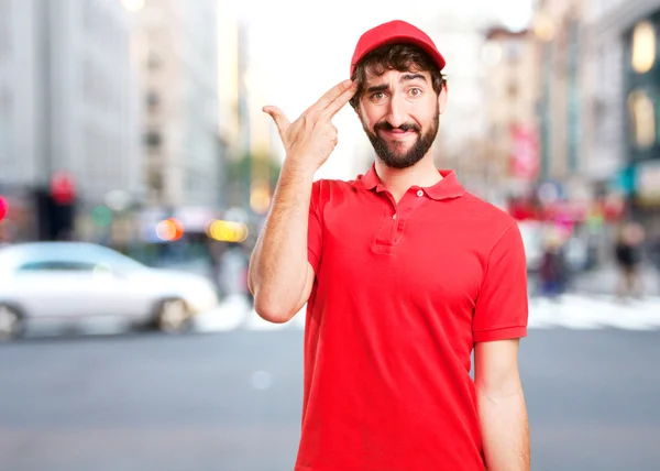
M 530 30 L 492 28 L 483 55 L 487 122 L 487 146 L 481 163 L 484 180 L 488 189 L 505 191 L 499 197 L 524 197 L 532 190 L 540 166 L 537 37 Z

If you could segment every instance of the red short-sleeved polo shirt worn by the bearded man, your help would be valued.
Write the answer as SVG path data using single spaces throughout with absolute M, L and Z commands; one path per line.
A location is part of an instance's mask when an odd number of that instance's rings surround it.
M 483 471 L 474 342 L 527 333 L 515 220 L 453 172 L 398 204 L 371 171 L 314 184 L 296 471 Z

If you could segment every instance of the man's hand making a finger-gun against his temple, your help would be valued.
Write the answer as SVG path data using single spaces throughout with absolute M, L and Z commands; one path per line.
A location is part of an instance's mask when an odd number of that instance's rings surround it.
M 263 111 L 275 121 L 287 161 L 312 174 L 323 165 L 337 145 L 332 118 L 356 90 L 351 80 L 336 85 L 293 123 L 279 108 L 264 107 Z

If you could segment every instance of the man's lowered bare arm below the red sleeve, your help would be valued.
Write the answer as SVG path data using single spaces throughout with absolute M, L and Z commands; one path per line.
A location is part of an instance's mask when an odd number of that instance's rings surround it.
M 529 471 L 529 425 L 518 340 L 477 342 L 474 381 L 488 471 Z

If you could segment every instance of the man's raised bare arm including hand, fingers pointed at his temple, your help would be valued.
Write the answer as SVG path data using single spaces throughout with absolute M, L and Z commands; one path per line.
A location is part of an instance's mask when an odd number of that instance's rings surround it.
M 294 123 L 278 108 L 264 108 L 277 125 L 286 158 L 248 280 L 256 313 L 272 322 L 289 320 L 311 293 L 315 274 L 307 261 L 307 231 L 312 178 L 337 145 L 331 119 L 355 89 L 351 80 L 342 81 Z

